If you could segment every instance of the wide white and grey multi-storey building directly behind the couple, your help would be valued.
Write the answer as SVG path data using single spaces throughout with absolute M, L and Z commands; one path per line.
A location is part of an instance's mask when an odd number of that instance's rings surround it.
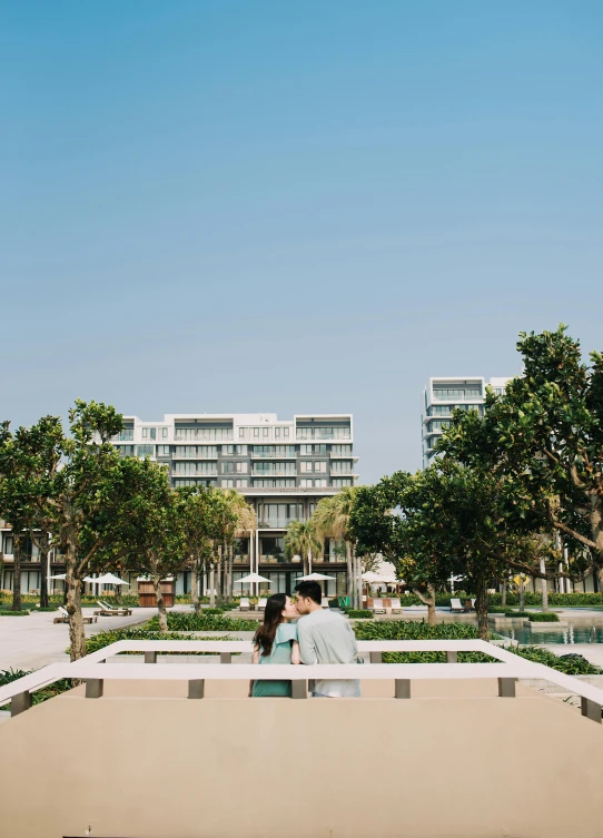
M 353 427 L 350 414 L 304 414 L 288 421 L 279 421 L 274 413 L 168 414 L 158 422 L 125 416 L 123 431 L 112 443 L 122 456 L 149 456 L 167 465 L 174 487 L 238 490 L 254 507 L 258 529 L 236 542 L 234 581 L 256 571 L 270 580 L 270 590 L 277 593 L 293 591 L 302 574 L 302 558 L 285 555 L 288 524 L 307 521 L 322 497 L 358 480 Z M 7 525 L 0 542 L 6 556 L 0 586 L 11 588 L 12 533 Z M 39 588 L 36 553 L 29 541 L 23 544 L 24 592 Z M 313 564 L 334 576 L 325 584 L 326 593 L 347 592 L 345 552 L 334 540 L 325 541 L 323 554 L 314 556 Z M 51 570 L 63 572 L 59 555 Z M 136 573 L 127 581 L 136 591 Z M 189 590 L 190 574 L 182 573 L 177 593 Z

